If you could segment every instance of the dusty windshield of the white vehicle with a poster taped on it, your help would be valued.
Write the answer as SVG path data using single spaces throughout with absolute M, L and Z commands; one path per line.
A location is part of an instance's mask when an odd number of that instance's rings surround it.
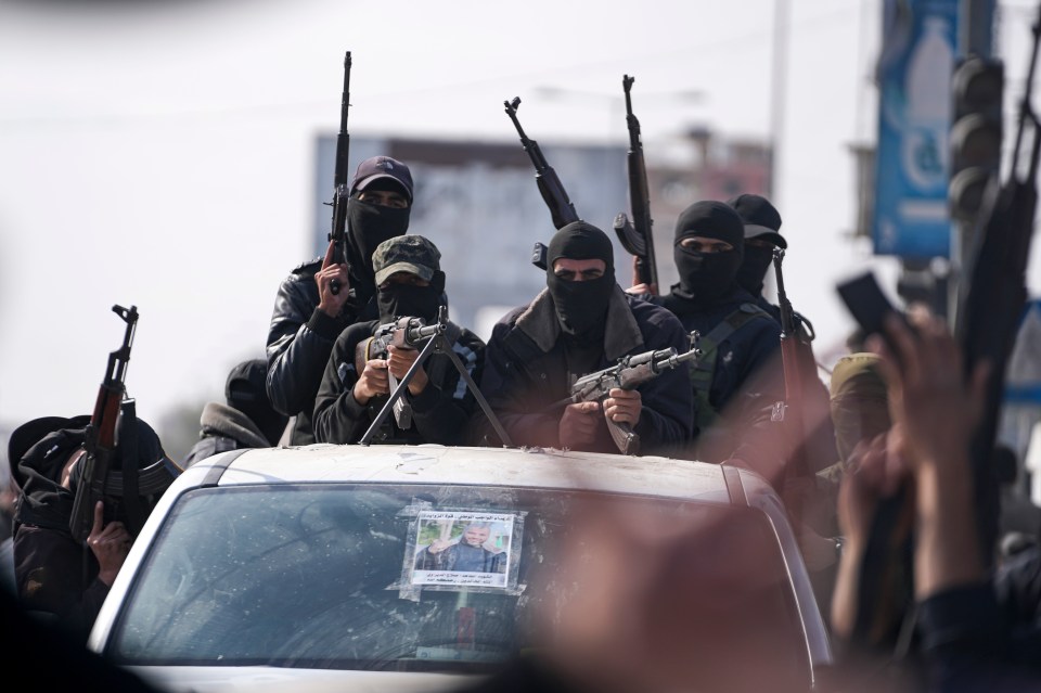
M 590 522 L 595 513 L 607 522 Z M 656 535 L 665 556 L 626 549 L 627 537 L 646 547 Z M 670 596 L 646 608 L 705 631 L 693 649 L 761 658 L 762 641 L 808 680 L 766 514 L 544 489 L 192 491 L 150 548 L 105 654 L 126 665 L 489 670 L 544 645 L 547 628 L 575 618 L 619 566 L 661 561 Z

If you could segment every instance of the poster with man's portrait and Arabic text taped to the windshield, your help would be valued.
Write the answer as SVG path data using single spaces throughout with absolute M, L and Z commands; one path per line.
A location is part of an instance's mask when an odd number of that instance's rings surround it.
M 506 587 L 515 519 L 509 513 L 420 512 L 412 585 Z

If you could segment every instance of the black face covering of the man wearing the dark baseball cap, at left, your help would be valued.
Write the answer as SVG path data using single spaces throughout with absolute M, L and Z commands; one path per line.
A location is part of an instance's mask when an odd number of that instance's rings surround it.
M 373 190 L 394 190 L 408 197 L 404 188 L 391 179 L 378 179 L 365 185 L 365 192 Z M 375 291 L 375 271 L 372 269 L 373 252 L 387 239 L 404 235 L 409 229 L 411 214 L 411 204 L 399 208 L 362 202 L 355 195 L 347 200 L 347 227 L 350 229 L 347 234 L 347 261 L 350 262 L 356 279 L 372 285 L 369 293 Z M 362 290 L 360 293 L 367 292 Z

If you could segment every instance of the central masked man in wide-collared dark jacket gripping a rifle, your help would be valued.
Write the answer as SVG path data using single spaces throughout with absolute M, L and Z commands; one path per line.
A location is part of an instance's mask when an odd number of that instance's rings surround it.
M 576 378 L 622 357 L 690 348 L 674 316 L 618 286 L 607 234 L 584 221 L 564 226 L 550 242 L 545 272 L 547 287 L 496 324 L 480 381 L 513 442 L 618 452 L 608 419 L 631 426 L 643 452 L 687 440 L 693 406 L 684 368 L 635 389 L 611 389 L 603 401 L 566 402 Z M 494 440 L 483 433 L 477 422 L 477 441 Z

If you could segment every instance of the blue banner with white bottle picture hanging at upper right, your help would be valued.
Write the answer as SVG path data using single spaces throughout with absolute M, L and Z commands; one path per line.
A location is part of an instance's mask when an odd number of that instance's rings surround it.
M 886 0 L 872 239 L 877 255 L 949 257 L 958 0 Z

